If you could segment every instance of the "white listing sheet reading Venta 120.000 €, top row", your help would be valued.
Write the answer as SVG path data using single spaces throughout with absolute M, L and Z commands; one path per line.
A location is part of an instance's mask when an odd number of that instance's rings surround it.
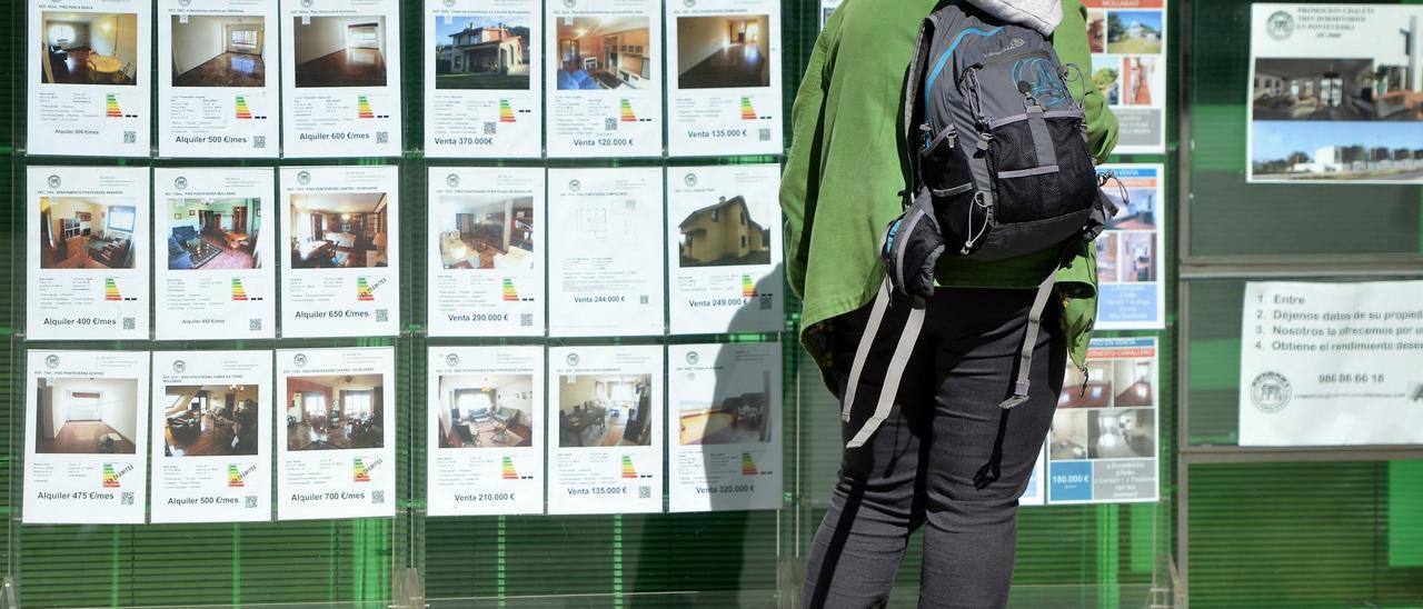
M 545 4 L 549 157 L 662 154 L 662 4 Z

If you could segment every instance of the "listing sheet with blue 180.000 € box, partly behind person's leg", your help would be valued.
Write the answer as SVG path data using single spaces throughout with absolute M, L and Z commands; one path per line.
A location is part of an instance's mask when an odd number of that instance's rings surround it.
M 1047 434 L 1049 504 L 1157 501 L 1160 353 L 1154 336 L 1091 339 L 1067 366 Z

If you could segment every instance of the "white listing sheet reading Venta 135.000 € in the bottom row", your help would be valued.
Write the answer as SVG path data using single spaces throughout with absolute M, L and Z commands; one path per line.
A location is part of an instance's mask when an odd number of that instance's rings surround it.
M 662 511 L 660 346 L 548 351 L 548 512 Z

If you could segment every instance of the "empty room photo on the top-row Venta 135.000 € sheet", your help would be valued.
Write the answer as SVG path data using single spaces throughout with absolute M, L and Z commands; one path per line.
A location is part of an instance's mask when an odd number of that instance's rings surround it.
M 771 84 L 770 17 L 677 17 L 677 87 Z

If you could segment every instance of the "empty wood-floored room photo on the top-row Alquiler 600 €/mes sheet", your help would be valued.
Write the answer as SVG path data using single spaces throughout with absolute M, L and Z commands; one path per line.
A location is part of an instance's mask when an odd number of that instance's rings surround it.
M 384 87 L 386 17 L 292 17 L 297 87 Z

